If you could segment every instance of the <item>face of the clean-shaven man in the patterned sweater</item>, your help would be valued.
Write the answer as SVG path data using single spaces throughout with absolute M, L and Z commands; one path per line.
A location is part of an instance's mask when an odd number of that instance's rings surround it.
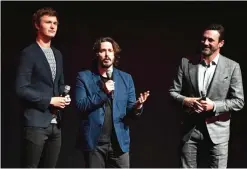
M 43 37 L 53 38 L 56 35 L 58 27 L 57 17 L 44 15 L 40 18 L 40 24 L 35 26 L 38 29 L 38 34 Z

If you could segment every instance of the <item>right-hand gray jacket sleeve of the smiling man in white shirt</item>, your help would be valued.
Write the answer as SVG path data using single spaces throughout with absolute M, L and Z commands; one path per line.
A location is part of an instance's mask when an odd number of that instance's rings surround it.
M 244 107 L 244 91 L 242 82 L 242 73 L 239 64 L 234 67 L 228 97 L 222 101 L 215 101 L 215 115 L 220 115 L 224 112 L 239 111 Z

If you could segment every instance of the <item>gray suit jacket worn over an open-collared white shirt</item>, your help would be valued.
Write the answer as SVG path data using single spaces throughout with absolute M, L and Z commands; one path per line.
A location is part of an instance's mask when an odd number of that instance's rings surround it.
M 169 93 L 171 97 L 183 105 L 185 97 L 201 97 L 198 90 L 198 65 L 196 59 L 182 58 L 176 78 Z M 229 140 L 231 112 L 239 111 L 244 107 L 244 92 L 242 74 L 237 62 L 222 55 L 219 57 L 213 79 L 207 90 L 207 97 L 215 102 L 215 112 L 188 113 L 183 108 L 183 140 L 190 138 L 191 132 L 198 121 L 206 123 L 213 143 L 223 143 Z

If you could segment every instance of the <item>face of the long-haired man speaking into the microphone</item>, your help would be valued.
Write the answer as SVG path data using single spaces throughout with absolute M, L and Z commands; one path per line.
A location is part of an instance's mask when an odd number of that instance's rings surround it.
M 109 68 L 115 60 L 114 50 L 110 42 L 102 42 L 98 52 L 99 65 L 102 68 Z

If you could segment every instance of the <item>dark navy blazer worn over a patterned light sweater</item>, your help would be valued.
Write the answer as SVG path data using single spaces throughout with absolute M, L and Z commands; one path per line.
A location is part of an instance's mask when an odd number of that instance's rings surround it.
M 64 90 L 63 61 L 59 50 L 51 47 L 56 59 L 53 82 L 50 65 L 37 43 L 21 52 L 16 77 L 16 92 L 24 105 L 24 125 L 48 127 L 52 120 L 51 97 Z

